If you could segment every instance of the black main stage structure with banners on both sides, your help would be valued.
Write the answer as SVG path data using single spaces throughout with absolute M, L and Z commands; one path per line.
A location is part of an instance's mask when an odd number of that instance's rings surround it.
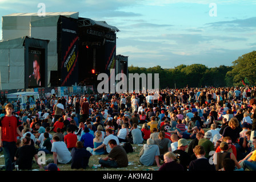
M 58 71 L 51 71 L 51 85 L 77 83 L 97 89 L 100 73 L 109 77 L 119 73 L 120 64 L 116 59 L 118 28 L 89 18 L 60 16 L 57 30 Z

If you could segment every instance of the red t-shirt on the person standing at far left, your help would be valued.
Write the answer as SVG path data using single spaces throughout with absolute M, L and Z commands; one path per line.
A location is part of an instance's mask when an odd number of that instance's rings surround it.
M 2 129 L 2 141 L 17 142 L 17 127 L 21 123 L 15 116 L 3 117 L 0 119 L 0 127 Z

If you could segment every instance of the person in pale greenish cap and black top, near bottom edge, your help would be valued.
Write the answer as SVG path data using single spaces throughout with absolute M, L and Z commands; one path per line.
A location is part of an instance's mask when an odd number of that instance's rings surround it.
M 181 138 L 178 140 L 177 150 L 173 151 L 173 153 L 177 156 L 179 163 L 183 166 L 184 171 L 187 171 L 191 161 L 190 155 L 186 152 L 188 144 L 189 143 L 185 138 Z

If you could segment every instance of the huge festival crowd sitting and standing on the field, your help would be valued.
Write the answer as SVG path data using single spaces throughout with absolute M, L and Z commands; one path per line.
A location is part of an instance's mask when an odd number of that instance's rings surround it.
M 256 86 L 52 96 L 22 111 L 8 103 L 2 169 L 31 169 L 39 151 L 53 155 L 45 170 L 85 169 L 92 155 L 105 155 L 102 167 L 127 167 L 122 144 L 131 143 L 143 144 L 138 164 L 159 171 L 255 170 L 255 110 Z

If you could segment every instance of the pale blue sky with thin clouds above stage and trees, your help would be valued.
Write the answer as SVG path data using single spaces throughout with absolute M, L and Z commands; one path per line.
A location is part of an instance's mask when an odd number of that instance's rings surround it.
M 37 13 L 38 3 L 117 27 L 117 55 L 129 66 L 230 66 L 256 50 L 255 0 L 0 0 L 0 15 Z

